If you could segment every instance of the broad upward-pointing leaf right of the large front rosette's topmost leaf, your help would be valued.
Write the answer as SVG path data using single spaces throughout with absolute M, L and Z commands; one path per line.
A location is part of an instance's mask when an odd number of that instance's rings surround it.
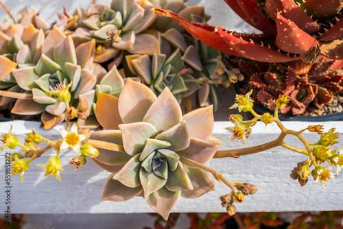
M 168 88 L 165 88 L 150 106 L 143 121 L 154 125 L 157 131 L 167 130 L 182 121 L 181 108 Z

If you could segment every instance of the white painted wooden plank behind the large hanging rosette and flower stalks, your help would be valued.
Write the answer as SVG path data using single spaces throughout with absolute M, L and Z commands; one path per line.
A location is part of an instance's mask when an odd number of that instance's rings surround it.
M 14 126 L 14 134 L 23 136 L 27 130 L 34 128 L 36 132 L 49 135 L 49 138 L 60 138 L 58 127 L 49 132 L 38 129 L 39 124 L 29 121 L 15 121 L 0 123 L 0 130 L 8 130 L 10 123 Z M 334 126 L 343 131 L 343 122 L 322 123 L 328 130 Z M 223 141 L 220 149 L 234 149 L 242 147 L 241 143 L 229 144 L 230 135 L 223 130 L 230 125 L 226 121 L 215 122 L 214 136 Z M 301 130 L 313 123 L 285 122 L 287 128 Z M 265 128 L 263 123 L 257 123 L 252 129 L 252 134 L 247 142 L 247 147 L 258 145 L 262 142 L 271 141 L 277 137 L 279 131 L 272 125 Z M 318 134 L 305 134 L 310 141 L 318 140 Z M 286 142 L 292 142 L 289 138 Z M 300 147 L 300 142 L 292 145 Z M 4 152 L 14 152 L 6 149 Z M 0 183 L 3 184 L 4 163 L 3 153 L 0 157 Z M 102 187 L 108 172 L 102 171 L 91 160 L 80 168 L 73 171 L 73 167 L 66 167 L 69 157 L 73 152 L 63 153 L 61 156 L 64 171 L 62 182 L 43 177 L 44 169 L 36 167 L 38 163 L 45 163 L 49 159 L 49 153 L 32 162 L 25 173 L 24 182 L 20 182 L 19 176 L 12 177 L 12 213 L 148 213 L 151 208 L 141 197 L 135 197 L 128 202 L 104 202 L 100 200 Z M 252 196 L 246 197 L 243 204 L 239 204 L 241 212 L 252 211 L 296 211 L 296 210 L 343 210 L 342 178 L 330 180 L 325 191 L 320 184 L 307 184 L 304 187 L 289 178 L 292 168 L 297 162 L 305 160 L 300 154 L 289 152 L 287 149 L 277 147 L 267 152 L 240 158 L 213 159 L 209 167 L 217 169 L 231 181 L 239 180 L 250 182 L 257 186 L 259 191 Z M 4 185 L 3 185 L 4 186 Z M 180 198 L 174 207 L 174 212 L 215 212 L 224 211 L 220 206 L 218 197 L 230 190 L 216 182 L 217 190 L 207 193 L 198 199 L 188 200 Z M 0 192 L 0 200 L 3 200 L 3 191 Z M 4 209 L 1 201 L 1 209 Z

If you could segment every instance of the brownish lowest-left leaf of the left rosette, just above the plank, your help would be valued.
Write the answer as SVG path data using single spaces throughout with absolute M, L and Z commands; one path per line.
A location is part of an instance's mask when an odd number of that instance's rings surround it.
M 45 110 L 45 104 L 31 99 L 18 99 L 11 112 L 16 115 L 39 115 Z

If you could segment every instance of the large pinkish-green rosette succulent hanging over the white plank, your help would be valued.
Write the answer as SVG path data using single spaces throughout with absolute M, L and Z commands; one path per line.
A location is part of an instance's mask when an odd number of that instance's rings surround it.
M 220 145 L 211 136 L 212 106 L 182 117 L 169 88 L 156 98 L 150 88 L 128 78 L 119 98 L 99 93 L 95 110 L 104 130 L 91 139 L 123 145 L 126 152 L 99 149 L 93 158 L 112 172 L 103 200 L 120 202 L 141 195 L 167 219 L 180 195 L 198 197 L 214 189 L 206 172 L 187 166 L 187 158 L 208 162 Z

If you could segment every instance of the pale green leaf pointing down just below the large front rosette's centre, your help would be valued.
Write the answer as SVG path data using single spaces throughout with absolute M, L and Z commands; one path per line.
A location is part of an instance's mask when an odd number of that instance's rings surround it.
M 143 167 L 141 167 L 141 171 L 139 171 L 139 178 L 143 186 L 145 197 L 151 193 L 154 193 L 155 191 L 158 191 L 158 189 L 161 189 L 167 182 L 167 179 L 156 176 L 153 171 L 147 172 L 145 169 L 143 169 Z

